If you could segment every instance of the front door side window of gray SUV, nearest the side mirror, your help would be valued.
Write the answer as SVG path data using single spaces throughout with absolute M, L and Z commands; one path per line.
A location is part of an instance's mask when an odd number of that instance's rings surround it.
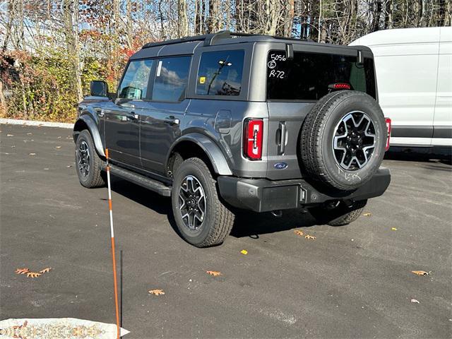
M 118 90 L 118 97 L 131 100 L 142 100 L 148 91 L 150 69 L 152 60 L 131 61 L 122 78 Z

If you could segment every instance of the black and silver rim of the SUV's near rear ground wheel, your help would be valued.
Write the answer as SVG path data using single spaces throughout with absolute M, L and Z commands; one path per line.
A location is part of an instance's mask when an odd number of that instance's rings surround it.
M 189 230 L 198 230 L 206 215 L 206 194 L 196 177 L 187 175 L 179 189 L 179 213 Z

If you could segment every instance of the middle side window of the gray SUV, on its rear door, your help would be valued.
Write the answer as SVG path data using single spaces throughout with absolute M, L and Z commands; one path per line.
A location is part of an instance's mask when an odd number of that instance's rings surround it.
M 184 100 L 189 79 L 191 57 L 165 58 L 157 61 L 153 101 L 179 102 Z

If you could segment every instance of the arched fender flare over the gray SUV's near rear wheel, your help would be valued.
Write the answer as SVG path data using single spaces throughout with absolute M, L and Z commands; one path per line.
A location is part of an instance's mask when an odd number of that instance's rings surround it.
M 211 138 L 205 136 L 201 133 L 188 133 L 184 136 L 181 136 L 177 139 L 177 141 L 172 145 L 169 150 L 167 160 L 165 165 L 168 165 L 169 157 L 172 155 L 174 148 L 184 141 L 191 141 L 192 143 L 196 143 L 208 156 L 210 163 L 212 164 L 213 170 L 218 175 L 232 175 L 231 169 L 227 164 L 227 160 L 225 155 L 223 155 L 222 151 L 218 147 L 217 144 L 213 142 Z

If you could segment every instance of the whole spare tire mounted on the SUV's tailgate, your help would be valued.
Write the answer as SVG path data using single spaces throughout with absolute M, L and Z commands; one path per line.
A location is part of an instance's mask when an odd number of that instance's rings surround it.
M 381 165 L 387 136 L 383 112 L 373 97 L 352 90 L 329 93 L 304 120 L 303 167 L 326 186 L 357 189 Z

